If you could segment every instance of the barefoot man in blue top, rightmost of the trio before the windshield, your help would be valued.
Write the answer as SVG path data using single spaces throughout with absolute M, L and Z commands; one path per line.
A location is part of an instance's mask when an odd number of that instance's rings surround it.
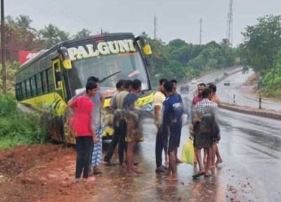
M 136 176 L 142 172 L 133 167 L 133 155 L 136 144 L 144 140 L 142 131 L 142 123 L 139 120 L 139 110 L 135 107 L 138 93 L 141 92 L 142 81 L 134 79 L 132 81 L 132 90 L 129 92 L 123 101 L 123 113 L 126 121 L 127 132 L 126 141 L 128 143 L 126 159 L 127 159 L 127 174 Z

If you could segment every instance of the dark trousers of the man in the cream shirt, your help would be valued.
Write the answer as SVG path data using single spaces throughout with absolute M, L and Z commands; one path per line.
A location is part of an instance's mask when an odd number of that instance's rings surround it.
M 160 129 L 158 129 L 155 145 L 156 167 L 160 167 L 162 165 L 163 149 L 166 153 L 168 150 L 168 138 L 166 138 L 164 134 L 160 131 Z

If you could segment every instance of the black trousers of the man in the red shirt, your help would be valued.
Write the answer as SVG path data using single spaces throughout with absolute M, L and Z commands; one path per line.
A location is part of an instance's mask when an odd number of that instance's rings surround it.
M 80 178 L 83 171 L 83 178 L 89 176 L 89 164 L 93 145 L 92 136 L 76 137 L 76 173 L 75 178 Z

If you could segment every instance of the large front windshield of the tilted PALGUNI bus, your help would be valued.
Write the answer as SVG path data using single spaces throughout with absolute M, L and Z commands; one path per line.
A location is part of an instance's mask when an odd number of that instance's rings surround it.
M 100 85 L 105 96 L 114 94 L 115 84 L 119 79 L 139 79 L 142 81 L 142 90 L 150 89 L 149 79 L 144 62 L 139 52 L 100 55 L 72 61 L 72 69 L 68 72 L 72 95 L 84 89 L 87 78 L 95 76 L 105 78 L 120 71 Z

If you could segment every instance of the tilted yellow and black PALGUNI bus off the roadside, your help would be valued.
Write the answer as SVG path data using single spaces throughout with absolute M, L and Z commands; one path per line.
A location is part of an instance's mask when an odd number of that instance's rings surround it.
M 40 110 L 47 109 L 51 117 L 48 118 L 50 137 L 75 143 L 65 127 L 67 102 L 84 89 L 89 76 L 104 80 L 100 86 L 105 96 L 104 108 L 109 107 L 119 79 L 140 79 L 142 92 L 138 105 L 152 112 L 153 93 L 148 73 L 151 53 L 147 38 L 134 37 L 132 33 L 100 34 L 58 43 L 19 67 L 17 100 Z M 106 116 L 106 112 L 102 114 Z M 106 127 L 103 138 L 110 138 L 112 133 L 112 128 Z

